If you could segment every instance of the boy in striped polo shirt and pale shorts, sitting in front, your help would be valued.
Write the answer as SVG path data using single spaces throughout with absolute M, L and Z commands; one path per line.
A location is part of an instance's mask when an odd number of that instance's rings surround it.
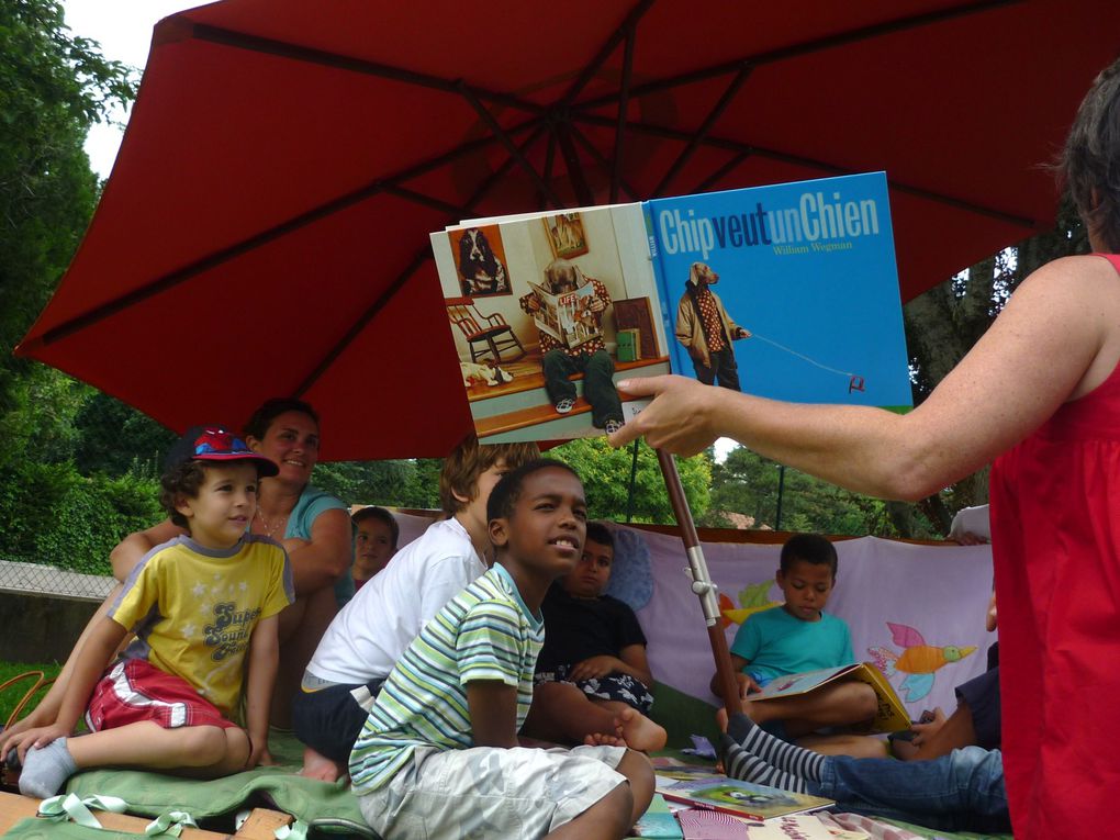
M 624 712 L 572 750 L 517 745 L 541 600 L 584 548 L 584 487 L 559 461 L 531 461 L 498 482 L 487 516 L 497 563 L 424 626 L 354 745 L 362 813 L 386 840 L 622 838 L 653 794 L 648 759 L 622 746 L 640 721 Z

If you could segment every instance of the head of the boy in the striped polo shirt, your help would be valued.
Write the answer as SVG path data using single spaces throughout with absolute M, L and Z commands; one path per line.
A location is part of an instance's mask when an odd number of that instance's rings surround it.
M 511 571 L 515 566 L 548 580 L 567 575 L 587 538 L 584 485 L 567 469 L 536 470 L 522 484 L 513 514 L 491 522 L 491 538 Z

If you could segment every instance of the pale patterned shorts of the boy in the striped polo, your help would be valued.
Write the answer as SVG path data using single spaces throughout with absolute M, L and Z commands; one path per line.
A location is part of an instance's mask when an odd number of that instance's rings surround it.
M 623 747 L 417 749 L 364 796 L 365 821 L 392 840 L 530 840 L 579 816 L 626 781 Z

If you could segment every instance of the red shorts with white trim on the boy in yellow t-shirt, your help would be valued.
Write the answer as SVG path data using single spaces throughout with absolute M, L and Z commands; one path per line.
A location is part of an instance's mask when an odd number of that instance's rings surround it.
M 236 727 L 222 717 L 181 676 L 165 673 L 147 660 L 116 662 L 93 689 L 85 712 L 91 731 L 151 720 L 165 729 L 180 726 Z

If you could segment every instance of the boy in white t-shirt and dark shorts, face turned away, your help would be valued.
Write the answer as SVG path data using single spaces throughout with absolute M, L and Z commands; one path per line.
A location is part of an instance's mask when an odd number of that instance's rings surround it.
M 423 625 L 491 564 L 486 502 L 507 472 L 539 457 L 535 444 L 479 446 L 466 438 L 444 461 L 436 522 L 339 610 L 292 704 L 302 775 L 334 782 L 393 665 Z

